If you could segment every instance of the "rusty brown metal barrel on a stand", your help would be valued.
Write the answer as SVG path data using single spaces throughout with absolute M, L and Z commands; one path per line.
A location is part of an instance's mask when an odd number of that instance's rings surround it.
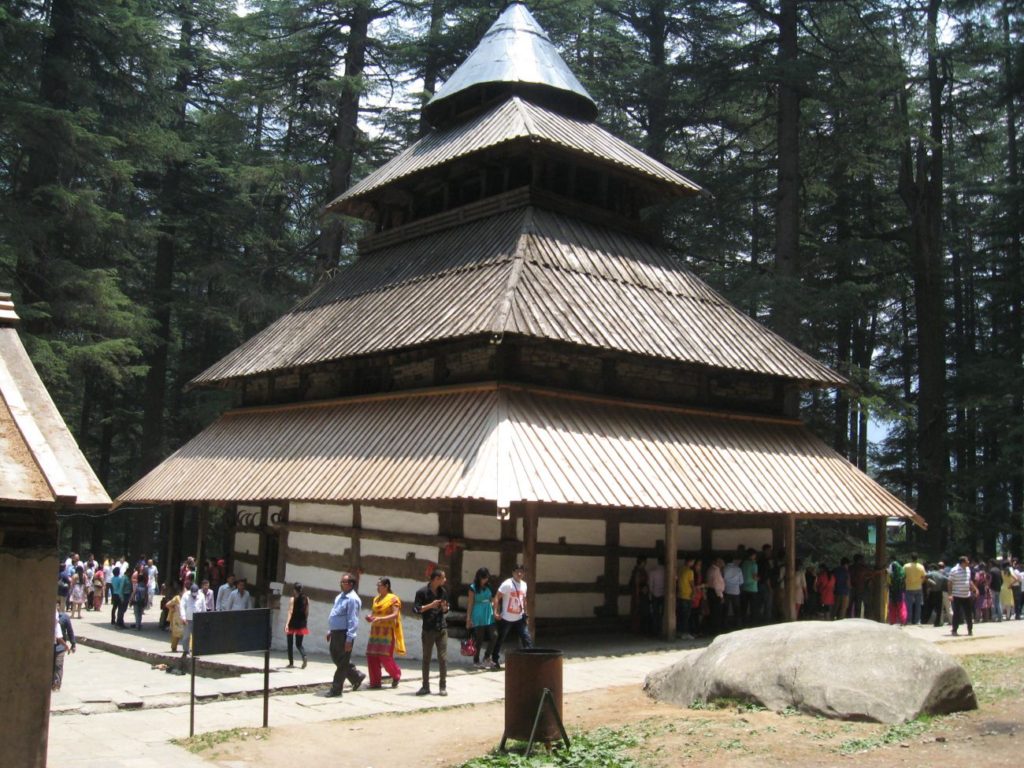
M 505 656 L 505 738 L 528 741 L 544 689 L 551 691 L 558 717 L 562 716 L 562 652 L 553 648 L 521 648 Z M 558 721 L 545 707 L 534 737 L 538 741 L 561 738 Z M 503 739 L 504 740 L 504 739 Z

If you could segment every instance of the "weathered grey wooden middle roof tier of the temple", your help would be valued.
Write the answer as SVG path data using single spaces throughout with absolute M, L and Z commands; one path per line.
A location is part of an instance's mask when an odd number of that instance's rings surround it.
M 352 266 L 191 383 L 505 335 L 845 383 L 646 240 L 520 205 L 425 234 L 417 222 L 403 241 L 387 232 L 382 246 L 364 249 Z

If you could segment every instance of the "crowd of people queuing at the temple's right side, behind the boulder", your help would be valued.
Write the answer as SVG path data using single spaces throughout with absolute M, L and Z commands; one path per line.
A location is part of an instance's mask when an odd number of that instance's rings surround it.
M 677 636 L 714 636 L 786 616 L 785 560 L 785 553 L 773 551 L 770 545 L 760 550 L 740 546 L 729 557 L 684 557 L 678 564 L 675 590 Z M 963 625 L 971 632 L 975 622 L 1021 617 L 1024 564 L 1016 558 L 972 560 L 964 556 L 947 566 L 942 561 L 920 562 L 911 553 L 905 561 L 894 559 L 888 567 L 878 568 L 864 555 L 855 554 L 840 558 L 835 565 L 805 564 L 798 558 L 796 573 L 793 611 L 801 620 L 885 614 L 890 624 L 951 625 L 957 634 Z M 885 602 L 880 606 L 883 585 Z M 664 559 L 648 562 L 638 557 L 630 574 L 630 592 L 632 630 L 659 635 L 665 601 L 671 595 Z

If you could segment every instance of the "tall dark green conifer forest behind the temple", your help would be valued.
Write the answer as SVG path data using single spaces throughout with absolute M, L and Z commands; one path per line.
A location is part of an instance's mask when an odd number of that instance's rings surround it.
M 355 258 L 323 206 L 425 130 L 504 4 L 0 0 L 0 290 L 112 496 L 230 404 L 191 377 Z M 923 551 L 1020 554 L 1022 3 L 530 9 L 599 121 L 710 193 L 649 216 L 678 258 L 851 379 L 805 421 Z M 148 550 L 160 517 L 129 543 L 129 514 L 72 546 Z

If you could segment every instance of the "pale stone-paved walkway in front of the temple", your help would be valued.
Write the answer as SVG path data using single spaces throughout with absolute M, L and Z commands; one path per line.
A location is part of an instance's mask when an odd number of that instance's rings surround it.
M 188 735 L 190 677 L 161 669 L 176 666 L 167 634 L 153 622 L 141 632 L 117 630 L 109 613 L 83 613 L 75 621 L 78 652 L 65 665 L 65 684 L 51 699 L 48 765 L 62 768 L 99 760 L 104 768 L 180 768 L 203 766 L 200 758 L 170 743 Z M 946 643 L 995 640 L 1008 634 L 1024 638 L 1024 622 L 976 627 L 975 638 L 950 638 L 948 628 L 907 628 L 924 639 Z M 542 638 L 543 639 L 543 638 Z M 559 637 L 550 645 L 565 654 L 563 692 L 618 685 L 640 685 L 647 673 L 670 665 L 700 641 L 667 643 L 633 637 Z M 946 648 L 944 648 L 946 649 Z M 953 648 L 948 648 L 953 650 Z M 204 659 L 206 662 L 206 659 Z M 288 669 L 282 651 L 271 651 L 269 724 L 273 726 L 361 718 L 429 708 L 501 700 L 502 672 L 474 670 L 462 657 L 450 658 L 449 696 L 416 696 L 419 662 L 402 659 L 403 680 L 396 689 L 347 689 L 340 698 L 324 692 L 334 673 L 330 657 L 310 655 L 305 670 Z M 196 678 L 196 732 L 258 728 L 263 722 L 263 654 L 215 656 L 211 667 L 241 674 Z M 357 658 L 360 670 L 366 659 Z M 436 664 L 434 665 L 436 674 Z M 436 690 L 436 685 L 435 685 Z

